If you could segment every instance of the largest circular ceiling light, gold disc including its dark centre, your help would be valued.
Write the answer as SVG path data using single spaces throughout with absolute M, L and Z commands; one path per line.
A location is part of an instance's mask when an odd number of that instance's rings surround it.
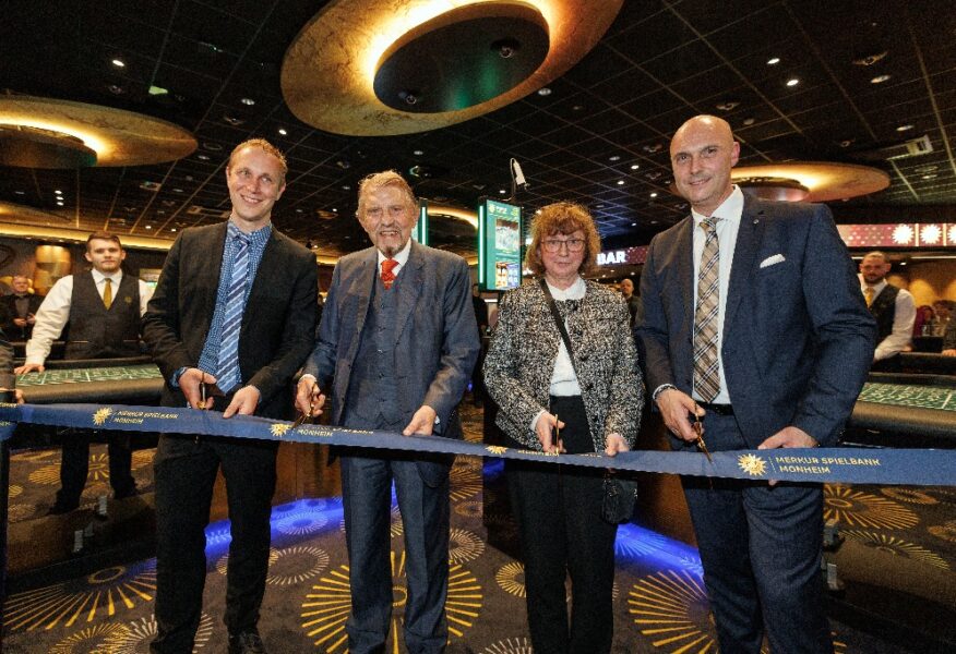
M 296 36 L 286 102 L 335 134 L 411 134 L 500 109 L 562 75 L 623 0 L 334 0 Z

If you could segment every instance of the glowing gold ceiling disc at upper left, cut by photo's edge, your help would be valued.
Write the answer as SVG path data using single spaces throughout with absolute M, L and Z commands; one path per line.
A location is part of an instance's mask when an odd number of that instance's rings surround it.
M 16 131 L 20 138 L 35 134 L 37 142 L 52 134 L 63 142 L 77 143 L 77 149 L 96 153 L 95 166 L 145 166 L 181 159 L 196 148 L 187 130 L 172 123 L 122 109 L 32 96 L 0 97 L 0 128 Z M 17 128 L 26 128 L 16 130 Z M 64 148 L 60 147 L 59 150 Z M 62 156 L 40 160 L 34 168 L 75 168 Z M 46 164 L 46 165 L 44 165 Z M 0 165 L 19 166 L 16 159 Z

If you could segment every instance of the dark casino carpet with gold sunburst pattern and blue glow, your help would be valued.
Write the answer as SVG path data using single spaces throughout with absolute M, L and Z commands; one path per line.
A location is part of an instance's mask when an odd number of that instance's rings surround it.
M 481 413 L 464 407 L 466 433 L 479 439 Z M 88 501 L 106 492 L 105 447 L 94 447 Z M 140 485 L 152 484 L 150 451 L 139 452 L 134 469 Z M 43 512 L 56 489 L 56 452 L 23 452 L 11 467 L 11 520 Z M 514 550 L 514 529 L 495 512 L 482 521 L 486 504 L 504 494 L 500 463 L 459 457 L 452 470 L 452 564 L 447 601 L 450 653 L 527 654 L 523 568 L 505 554 Z M 482 474 L 488 480 L 482 489 Z M 52 480 L 52 481 L 50 481 Z M 97 486 L 100 484 L 100 486 Z M 492 497 L 488 497 L 491 495 Z M 956 520 L 954 488 L 877 488 L 830 486 L 828 517 L 839 521 L 846 542 L 827 556 L 839 567 L 858 567 L 879 576 L 909 576 L 933 584 L 935 600 L 952 616 Z M 487 542 L 485 524 L 503 534 L 505 545 Z M 404 651 L 401 631 L 405 602 L 403 525 L 392 510 L 392 572 L 395 585 L 392 637 L 387 652 Z M 512 542 L 509 542 L 512 541 Z M 228 522 L 207 530 L 208 576 L 204 613 L 196 637 L 198 652 L 225 652 L 222 622 Z M 616 654 L 715 652 L 714 629 L 693 547 L 635 524 L 620 529 L 614 584 Z M 155 633 L 152 619 L 155 559 L 100 569 L 79 579 L 19 592 L 5 604 L 5 652 L 133 653 L 147 652 Z M 892 584 L 891 584 L 892 585 Z M 942 594 L 940 594 L 942 593 Z M 905 601 L 900 591 L 894 601 Z M 910 600 L 912 600 L 910 597 Z M 344 552 L 339 497 L 302 499 L 273 511 L 273 547 L 268 586 L 260 630 L 270 651 L 280 654 L 347 651 L 344 626 L 348 615 L 348 562 Z M 952 618 L 951 618 L 952 619 Z M 859 627 L 859 622 L 855 622 Z M 929 626 L 932 629 L 932 625 Z M 940 629 L 945 629 L 940 626 Z M 952 627 L 949 627 L 952 629 Z M 906 652 L 868 630 L 833 621 L 838 653 Z M 912 650 L 927 652 L 927 649 Z M 942 651 L 942 650 L 940 650 Z

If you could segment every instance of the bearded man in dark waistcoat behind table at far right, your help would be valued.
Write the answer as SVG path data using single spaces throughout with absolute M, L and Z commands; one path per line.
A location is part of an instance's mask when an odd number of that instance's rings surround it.
M 889 262 L 880 251 L 871 252 L 860 262 L 860 290 L 876 318 L 876 350 L 871 370 L 895 372 L 899 370 L 897 355 L 912 336 L 916 301 L 909 291 L 886 281 L 888 272 Z

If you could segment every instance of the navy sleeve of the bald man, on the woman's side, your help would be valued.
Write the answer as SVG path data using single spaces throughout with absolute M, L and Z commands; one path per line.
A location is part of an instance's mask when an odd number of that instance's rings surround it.
M 658 239 L 647 249 L 647 258 L 641 274 L 641 296 L 634 319 L 640 361 L 643 362 L 647 393 L 650 396 L 662 384 L 674 384 L 670 365 L 668 322 L 661 302 L 661 281 L 656 275 Z

